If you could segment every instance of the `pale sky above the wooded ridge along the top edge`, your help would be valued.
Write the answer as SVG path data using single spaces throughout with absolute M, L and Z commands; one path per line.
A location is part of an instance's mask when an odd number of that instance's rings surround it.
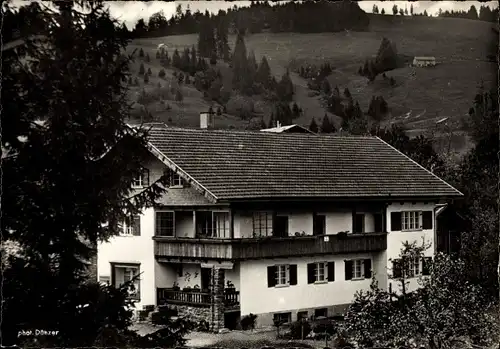
M 27 1 L 14 0 L 13 4 L 19 6 Z M 153 14 L 160 10 L 163 10 L 165 16 L 170 18 L 175 14 L 175 9 L 178 4 L 182 5 L 183 10 L 189 5 L 192 12 L 200 10 L 205 12 L 208 10 L 212 13 L 217 13 L 219 10 L 227 10 L 234 5 L 238 7 L 250 6 L 250 1 L 175 1 L 175 2 L 165 2 L 165 1 L 109 1 L 107 2 L 111 14 L 120 21 L 124 21 L 129 29 L 135 26 L 135 23 L 140 18 L 147 19 Z M 359 6 L 365 12 L 372 12 L 373 5 L 376 4 L 379 10 L 385 9 L 386 13 L 392 14 L 392 6 L 396 4 L 398 8 L 408 7 L 410 10 L 410 2 L 408 1 L 360 1 Z M 479 1 L 414 1 L 412 2 L 414 12 L 420 13 L 427 11 L 429 15 L 437 14 L 438 10 L 441 8 L 443 11 L 446 10 L 468 10 L 471 5 L 476 6 L 477 9 L 481 5 L 488 5 L 491 8 L 498 7 L 497 1 L 489 1 L 481 3 Z

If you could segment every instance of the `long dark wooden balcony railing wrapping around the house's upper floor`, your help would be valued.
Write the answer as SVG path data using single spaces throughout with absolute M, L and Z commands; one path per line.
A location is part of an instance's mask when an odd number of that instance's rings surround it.
M 154 237 L 157 257 L 245 260 L 318 254 L 378 252 L 387 249 L 386 233 L 193 239 Z

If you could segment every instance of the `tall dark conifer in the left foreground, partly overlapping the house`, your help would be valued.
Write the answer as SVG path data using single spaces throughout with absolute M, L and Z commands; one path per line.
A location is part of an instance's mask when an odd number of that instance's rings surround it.
M 59 335 L 37 346 L 135 347 L 118 340 L 131 325 L 128 287 L 88 280 L 86 263 L 98 241 L 118 235 L 118 222 L 164 192 L 151 183 L 129 200 L 147 137 L 126 126 L 130 59 L 120 55 L 128 40 L 102 2 L 90 13 L 67 1 L 54 3 L 56 11 L 28 6 L 3 12 L 4 43 L 13 41 L 15 23 L 43 45 L 2 52 L 2 153 L 9 156 L 2 158 L 1 247 L 19 246 L 18 255 L 2 254 L 2 344 L 21 346 L 18 332 L 43 324 Z M 98 343 L 103 331 L 109 338 Z

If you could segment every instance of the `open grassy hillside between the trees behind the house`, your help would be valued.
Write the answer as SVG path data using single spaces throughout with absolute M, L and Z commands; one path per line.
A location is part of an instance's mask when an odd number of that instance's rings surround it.
M 435 122 L 445 117 L 452 120 L 454 129 L 458 121 L 465 116 L 477 88 L 483 81 L 485 88 L 493 86 L 497 65 L 489 62 L 487 56 L 494 54 L 494 43 L 498 38 L 491 30 L 493 24 L 457 18 L 408 17 L 370 15 L 370 30 L 367 32 L 341 32 L 319 34 L 296 33 L 260 33 L 245 37 L 248 51 L 254 50 L 257 61 L 262 55 L 268 58 L 272 73 L 281 76 L 287 67 L 291 70 L 305 63 L 320 64 L 328 61 L 335 67 L 329 77 L 332 86 L 337 85 L 341 91 L 348 87 L 353 98 L 359 101 L 363 110 L 368 109 L 372 95 L 382 95 L 391 109 L 389 121 L 403 121 L 413 134 L 434 130 Z M 435 56 L 438 65 L 433 68 L 405 67 L 388 72 L 394 77 L 396 85 L 390 86 L 382 77 L 368 84 L 367 80 L 357 74 L 366 57 L 376 54 L 383 37 L 387 37 L 397 46 L 399 54 L 413 56 Z M 235 36 L 229 37 L 233 47 Z M 130 50 L 142 48 L 149 53 L 151 63 L 144 63 L 147 70 L 151 68 L 153 77 L 148 84 L 151 88 L 158 82 L 160 63 L 155 59 L 157 46 L 164 43 L 168 46 L 169 55 L 177 48 L 196 45 L 197 35 L 179 35 L 160 38 L 138 39 L 131 43 Z M 135 63 L 132 71 L 139 68 Z M 230 82 L 230 69 L 223 63 L 219 68 L 226 81 Z M 167 77 L 172 71 L 167 71 Z M 307 82 L 292 73 L 295 85 L 295 101 L 304 111 L 304 115 L 296 120 L 307 126 L 314 116 L 317 121 L 325 110 L 318 97 L 311 97 Z M 167 79 L 168 80 L 168 79 Z M 143 87 L 142 79 L 141 87 Z M 230 86 L 225 86 L 230 87 Z M 138 87 L 132 87 L 133 92 Z M 192 85 L 183 86 L 184 101 L 169 102 L 171 110 L 153 103 L 148 109 L 159 120 L 178 126 L 198 125 L 198 113 L 209 107 L 202 93 Z M 255 110 L 267 119 L 271 107 L 268 103 L 255 98 Z M 231 113 L 228 103 L 228 113 Z M 234 103 L 233 103 L 234 104 Z M 217 118 L 219 127 L 245 127 L 247 122 L 237 117 L 226 115 Z M 439 132 L 439 131 L 438 131 Z M 459 134 L 459 133 L 457 133 Z M 459 143 L 455 148 L 465 146 L 464 137 L 458 136 Z

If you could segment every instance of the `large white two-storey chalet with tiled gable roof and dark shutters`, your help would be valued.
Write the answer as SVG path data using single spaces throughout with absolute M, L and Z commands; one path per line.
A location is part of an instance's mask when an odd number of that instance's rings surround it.
M 382 288 L 404 241 L 436 249 L 436 210 L 462 194 L 377 137 L 152 127 L 134 181 L 163 175 L 155 207 L 98 246 L 98 277 L 134 275 L 137 309 L 167 304 L 214 331 L 256 314 L 343 314 L 372 276 Z

